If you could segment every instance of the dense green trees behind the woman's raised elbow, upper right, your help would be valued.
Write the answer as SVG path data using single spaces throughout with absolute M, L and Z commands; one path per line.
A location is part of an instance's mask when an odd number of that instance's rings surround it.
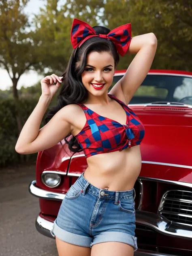
M 132 36 L 154 32 L 152 68 L 191 70 L 191 17 L 192 0 L 107 0 L 102 21 L 111 28 L 131 22 Z

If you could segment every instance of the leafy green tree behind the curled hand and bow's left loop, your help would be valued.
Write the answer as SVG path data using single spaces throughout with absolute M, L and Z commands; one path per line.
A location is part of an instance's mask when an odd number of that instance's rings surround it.
M 36 24 L 34 41 L 41 51 L 41 71 L 61 74 L 68 63 L 73 47 L 70 42 L 70 31 L 73 18 L 98 25 L 96 17 L 103 0 L 66 0 L 61 7 L 58 0 L 47 0 L 45 9 L 35 16 Z M 41 38 L 41 39 L 39 39 Z

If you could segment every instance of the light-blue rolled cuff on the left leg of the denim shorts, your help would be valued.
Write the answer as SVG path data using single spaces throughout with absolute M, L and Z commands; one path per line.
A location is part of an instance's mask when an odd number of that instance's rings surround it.
M 92 237 L 86 237 L 82 235 L 77 235 L 74 233 L 70 233 L 66 230 L 60 228 L 56 222 L 53 224 L 53 228 L 51 230 L 51 235 L 53 237 L 58 237 L 58 239 L 70 243 L 73 245 L 79 245 L 83 247 L 90 247 L 91 242 L 93 241 Z

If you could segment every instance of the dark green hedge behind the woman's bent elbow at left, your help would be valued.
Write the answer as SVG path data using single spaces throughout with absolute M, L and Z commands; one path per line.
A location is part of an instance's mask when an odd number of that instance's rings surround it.
M 19 101 L 13 98 L 11 90 L 0 91 L 0 167 L 19 164 L 23 161 L 34 160 L 37 154 L 19 155 L 15 151 L 15 145 L 19 132 L 16 121 L 16 104 L 22 117 L 22 125 L 26 122 L 34 110 L 39 97 L 41 96 L 41 85 L 38 82 L 32 87 L 21 87 Z M 57 104 L 57 95 L 51 101 L 49 108 Z M 49 109 L 47 109 L 49 111 Z M 47 113 L 47 112 L 46 112 Z M 45 113 L 45 115 L 46 115 Z M 41 122 L 43 127 L 44 119 Z

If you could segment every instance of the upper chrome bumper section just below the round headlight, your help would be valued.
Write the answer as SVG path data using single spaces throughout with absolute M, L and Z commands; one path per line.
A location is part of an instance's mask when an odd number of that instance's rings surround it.
M 62 194 L 62 193 L 55 193 L 55 192 L 43 190 L 41 188 L 37 188 L 35 180 L 32 181 L 29 185 L 29 192 L 33 196 L 43 198 L 43 199 L 48 199 L 48 200 L 62 201 L 65 197 L 65 194 Z

